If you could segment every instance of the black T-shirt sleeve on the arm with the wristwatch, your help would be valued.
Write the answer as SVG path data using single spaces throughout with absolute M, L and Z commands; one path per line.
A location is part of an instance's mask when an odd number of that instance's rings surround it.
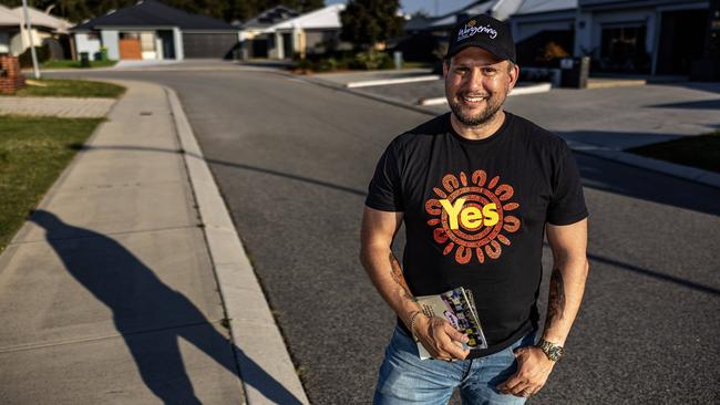
M 570 225 L 588 216 L 583 184 L 573 152 L 565 142 L 562 142 L 556 156 L 547 221 L 558 226 Z

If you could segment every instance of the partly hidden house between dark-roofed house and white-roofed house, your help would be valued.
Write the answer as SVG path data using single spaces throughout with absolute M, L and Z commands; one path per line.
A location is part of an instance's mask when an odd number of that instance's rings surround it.
M 243 59 L 268 58 L 268 42 L 271 34 L 266 33 L 265 30 L 298 15 L 300 13 L 294 9 L 276 6 L 240 24 Z

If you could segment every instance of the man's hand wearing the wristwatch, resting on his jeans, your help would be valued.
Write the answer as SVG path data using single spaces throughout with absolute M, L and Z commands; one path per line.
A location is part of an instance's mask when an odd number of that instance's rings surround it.
M 500 384 L 497 390 L 503 394 L 523 397 L 536 394 L 547 382 L 555 362 L 547 359 L 537 346 L 515 350 L 515 359 L 517 360 L 517 372 Z

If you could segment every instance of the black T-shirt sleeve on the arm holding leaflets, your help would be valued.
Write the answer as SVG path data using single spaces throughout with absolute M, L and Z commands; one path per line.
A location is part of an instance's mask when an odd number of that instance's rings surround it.
M 404 204 L 401 189 L 400 159 L 395 144 L 391 143 L 380 157 L 370 180 L 366 206 L 381 211 L 402 212 Z

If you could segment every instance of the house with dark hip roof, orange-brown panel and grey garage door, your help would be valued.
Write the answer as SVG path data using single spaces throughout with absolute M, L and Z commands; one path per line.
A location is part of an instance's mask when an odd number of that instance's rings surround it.
M 232 58 L 239 30 L 225 21 L 192 14 L 156 0 L 111 11 L 72 28 L 75 51 L 111 60 Z

